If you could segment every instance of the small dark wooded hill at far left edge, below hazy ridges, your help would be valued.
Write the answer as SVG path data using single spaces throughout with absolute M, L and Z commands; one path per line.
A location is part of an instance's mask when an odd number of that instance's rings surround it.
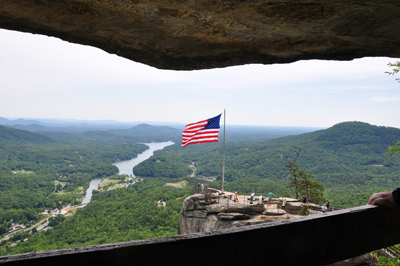
M 3 145 L 48 144 L 55 140 L 38 133 L 0 126 L 0 147 Z

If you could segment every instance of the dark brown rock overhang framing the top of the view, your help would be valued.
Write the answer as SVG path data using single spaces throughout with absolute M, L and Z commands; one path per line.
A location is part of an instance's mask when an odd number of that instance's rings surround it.
M 160 69 L 400 57 L 398 0 L 1 0 L 0 28 Z

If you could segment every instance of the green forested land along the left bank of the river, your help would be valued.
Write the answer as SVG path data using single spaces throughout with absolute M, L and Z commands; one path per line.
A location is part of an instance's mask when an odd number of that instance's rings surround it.
M 80 202 L 92 178 L 118 174 L 112 165 L 148 147 L 142 144 L 63 141 L 0 126 L 0 235 L 45 209 Z

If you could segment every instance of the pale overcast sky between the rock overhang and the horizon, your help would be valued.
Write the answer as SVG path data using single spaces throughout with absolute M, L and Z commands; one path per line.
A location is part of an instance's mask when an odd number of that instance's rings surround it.
M 53 37 L 0 29 L 0 117 L 400 128 L 394 58 L 158 70 Z

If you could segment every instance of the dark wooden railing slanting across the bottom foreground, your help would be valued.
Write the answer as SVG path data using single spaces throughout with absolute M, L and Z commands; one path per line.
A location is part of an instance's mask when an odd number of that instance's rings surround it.
M 400 243 L 400 209 L 361 206 L 227 230 L 0 257 L 5 265 L 328 265 Z

